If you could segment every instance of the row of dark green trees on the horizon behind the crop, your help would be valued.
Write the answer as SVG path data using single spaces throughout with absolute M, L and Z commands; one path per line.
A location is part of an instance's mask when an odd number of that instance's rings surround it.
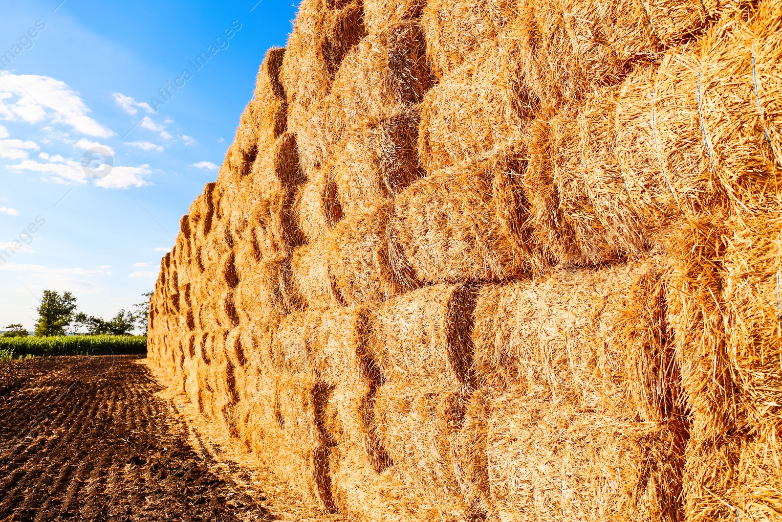
M 152 292 L 142 293 L 145 301 L 133 305 L 133 310 L 120 310 L 113 319 L 102 319 L 77 311 L 77 299 L 73 293 L 59 293 L 44 290 L 38 307 L 38 321 L 35 323 L 36 337 L 58 335 L 131 335 L 136 328 L 144 334 L 147 331 L 149 297 Z M 21 324 L 6 326 L 3 337 L 27 337 L 27 329 Z

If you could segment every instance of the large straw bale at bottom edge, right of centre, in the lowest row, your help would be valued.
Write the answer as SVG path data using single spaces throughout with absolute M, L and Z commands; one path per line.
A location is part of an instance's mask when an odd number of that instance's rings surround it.
M 683 441 L 665 425 L 524 391 L 491 408 L 486 457 L 500 520 L 682 520 Z

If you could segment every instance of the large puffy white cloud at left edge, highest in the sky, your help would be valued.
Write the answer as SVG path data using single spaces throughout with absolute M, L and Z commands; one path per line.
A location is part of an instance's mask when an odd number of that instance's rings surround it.
M 0 119 L 30 124 L 49 120 L 80 134 L 109 138 L 114 131 L 88 117 L 90 110 L 65 82 L 37 74 L 0 74 Z

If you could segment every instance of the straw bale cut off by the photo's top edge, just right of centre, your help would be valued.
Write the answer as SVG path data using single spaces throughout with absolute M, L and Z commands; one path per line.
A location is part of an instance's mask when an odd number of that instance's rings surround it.
M 421 22 L 432 70 L 443 77 L 480 47 L 496 45 L 500 31 L 515 16 L 515 2 L 509 0 L 429 0 Z

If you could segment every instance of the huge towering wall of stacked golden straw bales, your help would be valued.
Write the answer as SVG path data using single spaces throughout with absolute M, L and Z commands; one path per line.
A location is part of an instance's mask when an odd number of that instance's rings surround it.
M 782 6 L 304 0 L 149 357 L 325 513 L 782 520 Z

